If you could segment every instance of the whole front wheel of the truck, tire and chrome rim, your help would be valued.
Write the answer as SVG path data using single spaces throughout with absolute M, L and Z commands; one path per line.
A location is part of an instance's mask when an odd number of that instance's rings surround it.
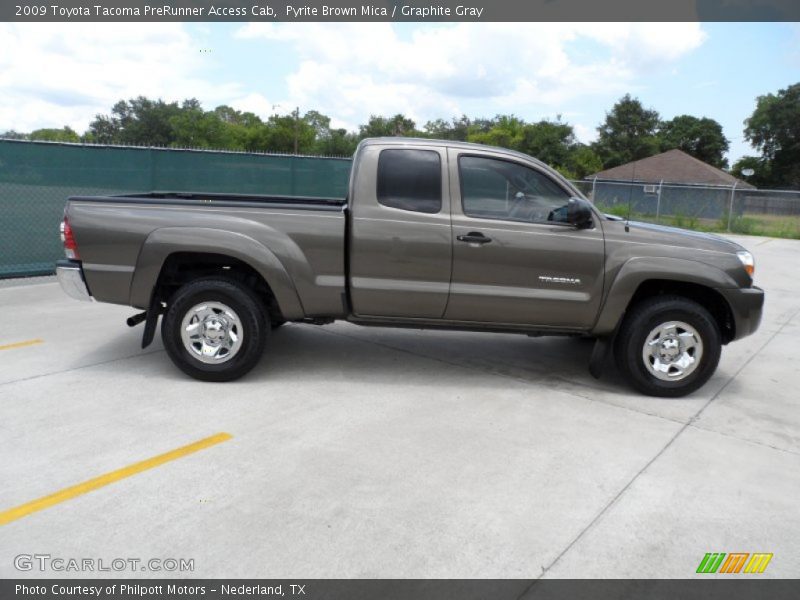
M 637 304 L 617 333 L 617 367 L 640 392 L 679 397 L 714 374 L 722 350 L 719 327 L 700 304 L 657 296 Z

